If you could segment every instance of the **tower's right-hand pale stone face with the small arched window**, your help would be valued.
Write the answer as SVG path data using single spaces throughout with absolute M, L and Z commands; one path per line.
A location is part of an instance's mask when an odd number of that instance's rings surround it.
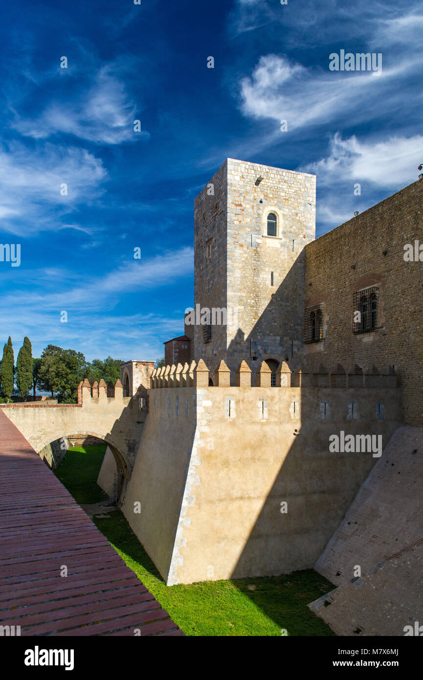
M 270 212 L 276 237 L 267 236 Z M 303 248 L 315 222 L 314 175 L 228 159 L 227 304 L 238 309 L 238 324 L 228 328 L 224 359 L 232 370 L 243 358 L 254 370 L 263 358 L 290 359 L 301 347 Z

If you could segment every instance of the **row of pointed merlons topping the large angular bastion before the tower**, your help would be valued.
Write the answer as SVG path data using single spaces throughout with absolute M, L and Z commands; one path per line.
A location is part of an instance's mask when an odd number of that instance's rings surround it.
M 242 360 L 236 370 L 234 387 L 271 387 L 272 373 L 263 361 L 253 372 L 248 363 Z M 151 388 L 182 387 L 232 387 L 231 371 L 224 360 L 220 360 L 215 371 L 211 371 L 203 361 L 190 364 L 172 364 L 154 369 L 150 379 Z M 396 388 L 398 376 L 392 366 L 379 371 L 375 365 L 370 369 L 353 364 L 348 371 L 341 364 L 328 370 L 323 364 L 313 372 L 301 366 L 292 372 L 285 361 L 277 368 L 275 387 L 280 388 Z M 88 382 L 88 381 L 87 381 Z M 94 389 L 94 386 L 93 388 Z

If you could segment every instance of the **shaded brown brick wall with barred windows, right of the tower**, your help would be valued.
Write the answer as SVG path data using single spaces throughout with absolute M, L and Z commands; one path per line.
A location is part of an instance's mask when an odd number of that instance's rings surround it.
M 423 262 L 405 262 L 404 246 L 423 243 L 423 181 L 414 182 L 305 248 L 305 306 L 323 303 L 326 337 L 306 345 L 321 362 L 393 364 L 401 374 L 405 424 L 423 425 Z M 382 328 L 354 335 L 353 294 L 378 286 Z

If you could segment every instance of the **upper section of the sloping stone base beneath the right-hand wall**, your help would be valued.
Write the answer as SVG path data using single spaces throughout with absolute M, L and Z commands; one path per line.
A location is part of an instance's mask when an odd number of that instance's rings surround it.
M 422 533 L 423 430 L 401 427 L 390 439 L 315 568 L 336 585 L 420 539 Z M 411 548 L 412 549 L 412 548 Z

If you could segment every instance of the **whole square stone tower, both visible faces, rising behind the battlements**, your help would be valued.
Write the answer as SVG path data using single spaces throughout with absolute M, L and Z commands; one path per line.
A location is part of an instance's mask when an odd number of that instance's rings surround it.
M 315 175 L 226 159 L 194 201 L 195 360 L 299 363 L 315 222 Z

